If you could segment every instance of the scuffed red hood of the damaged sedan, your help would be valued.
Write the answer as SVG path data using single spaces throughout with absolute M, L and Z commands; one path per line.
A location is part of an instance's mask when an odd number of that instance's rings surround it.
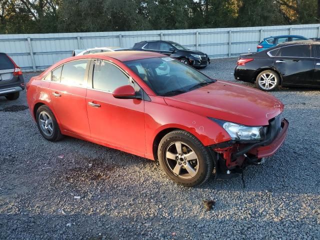
M 268 125 L 284 107 L 268 93 L 220 80 L 164 100 L 174 107 L 247 126 Z

